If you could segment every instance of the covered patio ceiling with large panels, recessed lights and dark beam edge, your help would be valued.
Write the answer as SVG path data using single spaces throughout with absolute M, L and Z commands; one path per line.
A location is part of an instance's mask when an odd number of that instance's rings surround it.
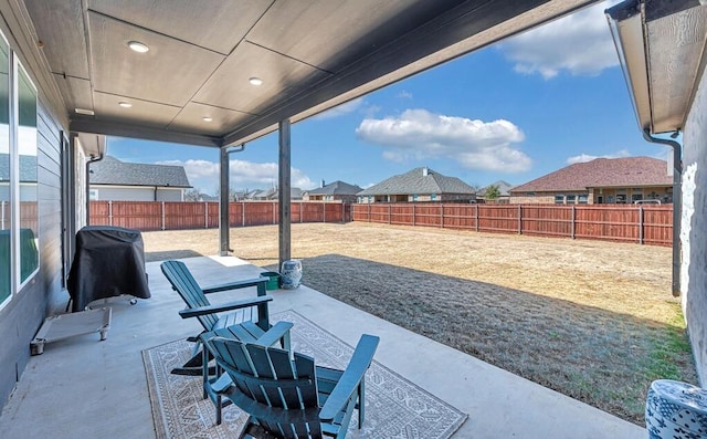
M 21 13 L 72 132 L 220 147 L 589 3 L 24 0 Z

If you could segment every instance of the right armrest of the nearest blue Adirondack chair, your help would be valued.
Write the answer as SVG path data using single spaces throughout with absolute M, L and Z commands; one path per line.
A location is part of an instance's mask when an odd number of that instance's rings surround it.
M 334 390 L 331 390 L 331 395 L 329 395 L 327 401 L 321 407 L 319 419 L 325 422 L 331 422 L 349 401 L 361 380 L 366 377 L 366 370 L 368 370 L 373 360 L 378 342 L 380 342 L 380 337 L 368 334 L 361 336 L 356 345 L 356 351 L 354 351 L 349 365 L 346 367 L 346 370 L 344 370 Z

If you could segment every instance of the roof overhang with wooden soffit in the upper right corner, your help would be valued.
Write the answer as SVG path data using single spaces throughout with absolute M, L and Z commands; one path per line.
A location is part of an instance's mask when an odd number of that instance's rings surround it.
M 642 130 L 680 130 L 705 70 L 707 1 L 627 0 L 608 9 Z

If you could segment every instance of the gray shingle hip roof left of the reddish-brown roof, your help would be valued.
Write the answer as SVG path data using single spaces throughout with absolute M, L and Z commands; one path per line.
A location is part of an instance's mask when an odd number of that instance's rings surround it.
M 424 170 L 426 169 L 426 175 Z M 474 188 L 456 177 L 447 177 L 430 168 L 413 170 L 390 177 L 378 185 L 360 191 L 368 195 L 423 195 L 423 194 L 475 194 Z

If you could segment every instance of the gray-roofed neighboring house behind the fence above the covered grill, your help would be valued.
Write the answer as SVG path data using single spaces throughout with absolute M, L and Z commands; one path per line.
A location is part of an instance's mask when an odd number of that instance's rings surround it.
M 92 200 L 183 201 L 191 188 L 182 166 L 120 161 L 105 156 L 89 165 Z

